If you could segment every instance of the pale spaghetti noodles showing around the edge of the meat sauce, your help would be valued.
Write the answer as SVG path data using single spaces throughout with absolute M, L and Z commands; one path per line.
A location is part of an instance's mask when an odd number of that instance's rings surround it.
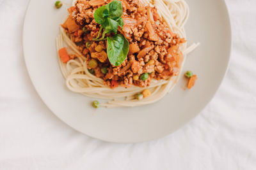
M 178 34 L 182 38 L 186 38 L 186 32 L 184 25 L 189 17 L 189 7 L 184 0 L 140 0 L 141 3 L 147 5 L 154 5 L 157 8 L 158 14 L 162 17 L 170 29 Z M 73 3 L 74 4 L 74 3 Z M 100 106 L 106 107 L 131 107 L 141 106 L 145 104 L 155 103 L 162 99 L 168 92 L 170 92 L 175 84 L 179 80 L 180 72 L 186 61 L 186 55 L 193 51 L 198 44 L 193 44 L 187 47 L 187 43 L 180 45 L 180 51 L 184 53 L 184 60 L 178 76 L 172 76 L 168 80 L 152 80 L 150 87 L 136 87 L 129 88 L 117 87 L 110 89 L 104 85 L 104 80 L 97 78 L 93 74 L 89 73 L 86 66 L 86 58 L 83 56 L 75 43 L 70 40 L 64 29 L 60 27 L 60 35 L 56 39 L 57 50 L 68 46 L 68 53 L 74 53 L 77 55 L 77 59 L 72 59 L 67 64 L 61 62 L 60 57 L 59 64 L 61 73 L 63 74 L 66 85 L 72 92 L 83 94 L 84 96 L 93 97 L 96 99 L 107 99 L 106 103 L 100 104 Z M 152 94 L 145 97 L 142 100 L 134 99 L 134 95 L 141 92 L 143 89 L 148 89 Z

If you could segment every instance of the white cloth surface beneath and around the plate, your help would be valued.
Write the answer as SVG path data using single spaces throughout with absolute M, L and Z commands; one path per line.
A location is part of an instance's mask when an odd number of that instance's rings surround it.
M 256 1 L 227 4 L 232 58 L 211 103 L 165 138 L 116 144 L 75 131 L 45 106 L 22 54 L 28 0 L 0 0 L 0 169 L 256 169 Z

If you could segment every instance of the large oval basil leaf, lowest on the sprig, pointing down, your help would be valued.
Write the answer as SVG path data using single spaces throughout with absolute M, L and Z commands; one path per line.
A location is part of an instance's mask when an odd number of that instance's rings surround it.
M 124 62 L 129 51 L 129 42 L 122 34 L 108 37 L 108 59 L 113 66 L 119 66 Z

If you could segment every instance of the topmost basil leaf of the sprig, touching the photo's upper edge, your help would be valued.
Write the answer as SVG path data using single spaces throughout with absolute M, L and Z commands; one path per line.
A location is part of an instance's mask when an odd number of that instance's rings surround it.
M 123 15 L 123 6 L 121 1 L 112 1 L 107 4 L 109 8 L 109 18 L 119 20 Z

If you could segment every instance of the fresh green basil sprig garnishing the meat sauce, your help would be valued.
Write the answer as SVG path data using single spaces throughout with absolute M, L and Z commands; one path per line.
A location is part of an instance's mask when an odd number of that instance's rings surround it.
M 94 13 L 95 21 L 100 24 L 100 30 L 95 41 L 108 40 L 108 59 L 113 66 L 120 66 L 127 57 L 129 51 L 129 42 L 122 34 L 116 34 L 118 26 L 123 27 L 124 20 L 123 7 L 121 1 L 112 1 L 105 6 L 101 6 Z M 103 31 L 104 29 L 104 31 Z M 102 32 L 103 31 L 103 32 Z M 100 33 L 102 36 L 100 38 Z M 114 32 L 115 36 L 108 36 L 106 34 Z

